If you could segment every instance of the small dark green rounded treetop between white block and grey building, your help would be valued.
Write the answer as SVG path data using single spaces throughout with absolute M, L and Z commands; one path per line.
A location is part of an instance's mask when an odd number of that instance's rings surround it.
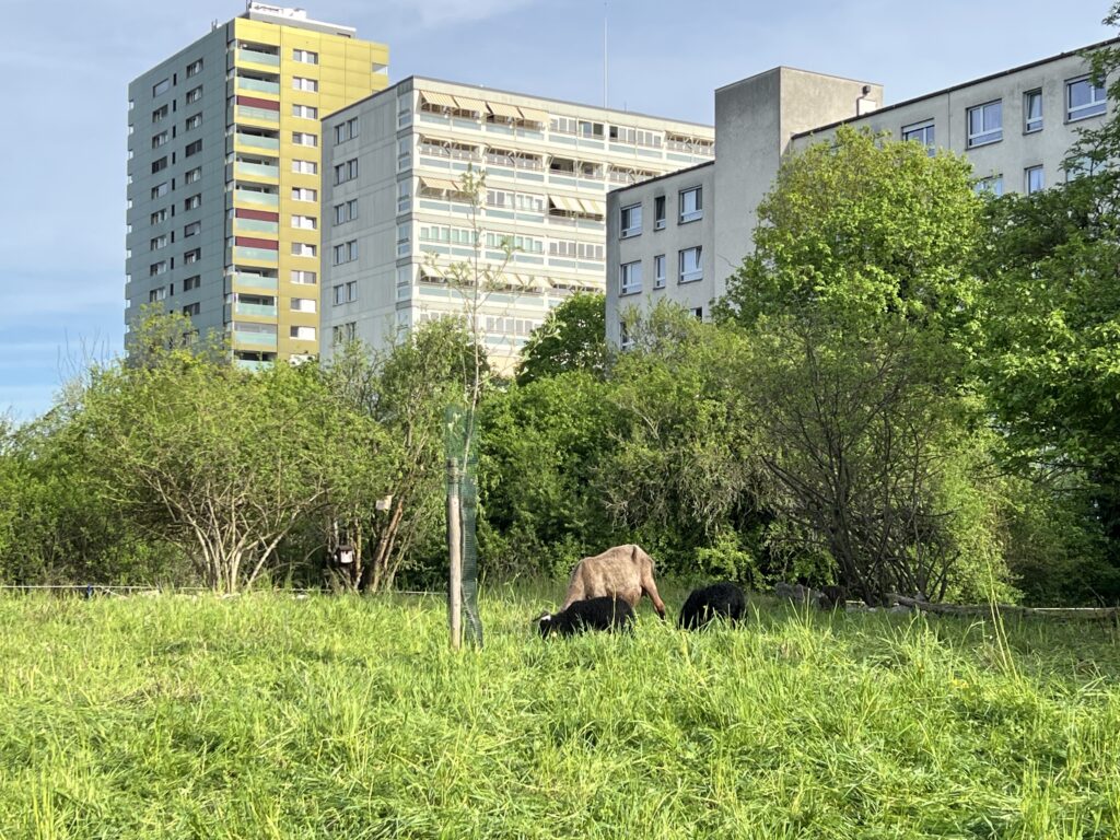
M 570 371 L 604 376 L 608 360 L 606 333 L 606 297 L 572 295 L 552 309 L 529 337 L 517 367 L 517 384 Z

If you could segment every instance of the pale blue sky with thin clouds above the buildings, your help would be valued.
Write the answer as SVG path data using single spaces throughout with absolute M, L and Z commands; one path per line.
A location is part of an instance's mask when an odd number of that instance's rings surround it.
M 278 3 L 280 4 L 280 3 Z M 911 96 L 1111 37 L 1109 0 L 306 0 L 412 74 L 698 122 L 778 64 Z M 234 0 L 3 0 L 0 412 L 29 419 L 123 334 L 127 87 L 243 11 Z

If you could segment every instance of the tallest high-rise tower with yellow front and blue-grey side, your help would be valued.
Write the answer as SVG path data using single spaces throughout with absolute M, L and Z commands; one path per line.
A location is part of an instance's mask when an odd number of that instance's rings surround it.
M 250 2 L 129 85 L 125 329 L 160 304 L 246 366 L 318 352 L 320 119 L 389 84 L 355 36 Z

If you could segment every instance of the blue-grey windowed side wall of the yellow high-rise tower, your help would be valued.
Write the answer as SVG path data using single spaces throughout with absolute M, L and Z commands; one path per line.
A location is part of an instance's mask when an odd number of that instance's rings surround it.
M 151 293 L 162 289 L 167 309 L 181 311 L 199 304 L 193 321 L 200 333 L 223 329 L 225 300 L 225 124 L 226 124 L 226 40 L 228 25 L 221 26 L 176 53 L 129 85 L 128 206 L 125 209 L 125 325 L 131 326 L 140 307 Z M 187 76 L 187 67 L 203 60 L 199 73 Z M 165 93 L 155 94 L 157 84 L 167 80 Z M 186 101 L 187 93 L 202 86 L 202 97 Z M 157 109 L 168 106 L 167 116 L 153 122 Z M 188 129 L 187 120 L 202 115 L 202 124 Z M 152 148 L 152 138 L 168 132 L 168 141 Z M 187 147 L 202 140 L 202 151 L 189 157 Z M 152 172 L 152 164 L 166 157 L 168 166 Z M 197 180 L 186 183 L 186 174 L 202 169 Z M 167 184 L 167 194 L 152 197 L 152 189 Z M 200 196 L 200 206 L 186 209 L 185 202 Z M 166 211 L 166 220 L 152 223 L 152 214 Z M 202 230 L 184 236 L 184 230 L 199 222 Z M 168 244 L 151 250 L 151 240 L 167 236 Z M 185 255 L 200 249 L 202 258 L 187 263 Z M 168 270 L 150 274 L 160 261 Z M 174 264 L 174 268 L 172 268 Z M 200 278 L 200 287 L 184 291 L 186 278 Z

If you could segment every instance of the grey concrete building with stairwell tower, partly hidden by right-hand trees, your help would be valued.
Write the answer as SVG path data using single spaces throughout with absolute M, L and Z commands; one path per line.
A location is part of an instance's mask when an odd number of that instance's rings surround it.
M 1058 183 L 1077 132 L 1099 127 L 1114 108 L 1089 78 L 1083 54 L 1118 41 L 886 108 L 879 106 L 881 85 L 788 67 L 719 88 L 713 162 L 607 196 L 608 340 L 625 346 L 623 312 L 645 310 L 659 298 L 708 318 L 752 246 L 755 211 L 782 155 L 828 139 L 840 125 L 916 140 L 930 153 L 963 153 L 978 187 L 996 193 Z

